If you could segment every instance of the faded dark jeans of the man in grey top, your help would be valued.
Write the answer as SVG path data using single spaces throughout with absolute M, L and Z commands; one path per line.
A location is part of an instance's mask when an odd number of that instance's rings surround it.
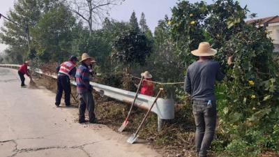
M 193 114 L 195 117 L 195 144 L 199 157 L 204 157 L 209 151 L 216 128 L 216 101 L 207 105 L 207 101 L 194 100 Z

